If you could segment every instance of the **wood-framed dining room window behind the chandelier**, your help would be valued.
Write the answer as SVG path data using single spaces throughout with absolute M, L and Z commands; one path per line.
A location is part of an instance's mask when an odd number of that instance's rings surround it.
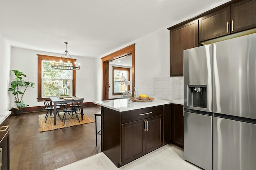
M 76 70 L 53 69 L 50 62 L 58 58 L 38 55 L 38 102 L 60 94 L 76 96 Z

